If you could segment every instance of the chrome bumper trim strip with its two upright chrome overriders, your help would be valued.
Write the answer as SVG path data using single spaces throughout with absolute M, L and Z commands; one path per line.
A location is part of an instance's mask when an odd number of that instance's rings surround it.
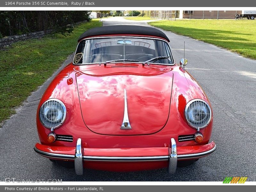
M 34 150 L 45 157 L 55 158 L 55 159 L 70 159 L 75 161 L 75 170 L 77 175 L 83 175 L 83 161 L 119 161 L 119 162 L 140 162 L 140 161 L 169 161 L 168 172 L 170 174 L 175 173 L 177 168 L 178 159 L 190 159 L 190 158 L 199 158 L 207 156 L 215 151 L 216 145 L 205 152 L 195 153 L 195 154 L 186 154 L 186 155 L 177 155 L 176 141 L 174 138 L 171 139 L 169 146 L 169 156 L 137 156 L 137 157 L 107 157 L 107 156 L 83 156 L 83 146 L 82 140 L 79 138 L 76 142 L 76 152 L 75 155 L 64 155 L 56 153 L 48 153 L 41 151 L 34 147 Z

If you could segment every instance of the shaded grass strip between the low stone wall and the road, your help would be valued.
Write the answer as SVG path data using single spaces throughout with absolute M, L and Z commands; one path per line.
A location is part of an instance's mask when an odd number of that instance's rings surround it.
M 0 50 L 0 123 L 76 51 L 84 31 L 100 26 L 102 22 L 92 20 L 78 25 L 70 36 L 51 34 Z

